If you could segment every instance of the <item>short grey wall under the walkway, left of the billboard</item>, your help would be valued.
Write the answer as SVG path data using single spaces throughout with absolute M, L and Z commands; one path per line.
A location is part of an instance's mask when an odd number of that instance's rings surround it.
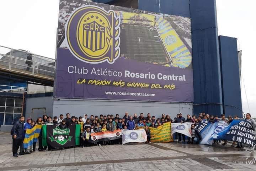
M 26 112 L 25 118 L 32 118 L 36 120 L 39 116 L 43 115 L 43 110 L 34 110 L 32 108 L 46 108 L 46 115 L 52 116 L 53 114 L 53 99 L 52 96 L 48 97 L 29 97 L 26 99 Z

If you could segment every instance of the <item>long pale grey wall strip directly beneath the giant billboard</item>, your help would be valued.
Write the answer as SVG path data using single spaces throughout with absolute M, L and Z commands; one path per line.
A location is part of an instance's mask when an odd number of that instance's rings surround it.
M 128 112 L 129 115 L 133 113 L 150 113 L 160 117 L 162 113 L 170 114 L 174 119 L 176 114 L 181 112 L 183 116 L 192 114 L 192 103 L 159 103 L 159 102 L 132 102 L 132 101 L 104 101 L 104 100 L 53 100 L 53 115 L 70 113 L 71 116 L 87 115 L 107 115 L 119 114 L 124 116 Z

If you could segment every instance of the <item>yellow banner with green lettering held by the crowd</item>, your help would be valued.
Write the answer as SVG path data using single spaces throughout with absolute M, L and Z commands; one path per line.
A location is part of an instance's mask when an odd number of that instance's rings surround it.
M 167 122 L 157 128 L 149 127 L 151 142 L 173 142 L 171 136 L 171 122 Z

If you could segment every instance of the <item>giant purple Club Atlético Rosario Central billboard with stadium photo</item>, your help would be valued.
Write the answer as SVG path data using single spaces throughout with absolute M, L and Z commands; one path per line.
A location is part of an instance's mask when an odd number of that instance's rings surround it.
M 190 18 L 60 0 L 54 98 L 193 102 Z

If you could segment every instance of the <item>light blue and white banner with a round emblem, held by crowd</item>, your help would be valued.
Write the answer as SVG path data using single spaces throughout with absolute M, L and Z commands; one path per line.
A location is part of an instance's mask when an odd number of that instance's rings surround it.
M 215 122 L 214 124 L 208 124 L 203 131 L 200 132 L 202 140 L 200 144 L 212 145 L 213 137 L 224 130 L 228 126 L 228 123 L 225 121 Z

